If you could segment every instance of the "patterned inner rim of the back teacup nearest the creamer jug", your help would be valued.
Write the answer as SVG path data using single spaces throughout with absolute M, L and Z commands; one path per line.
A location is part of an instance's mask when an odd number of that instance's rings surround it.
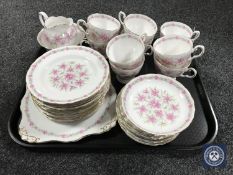
M 93 19 L 93 18 L 106 18 L 106 19 L 108 19 L 108 20 L 110 20 L 110 21 L 112 21 L 112 22 L 114 22 L 116 25 L 117 25 L 117 27 L 115 28 L 115 29 L 106 29 L 106 28 L 101 28 L 101 27 L 99 27 L 99 26 L 96 26 L 96 25 L 94 25 L 92 22 L 91 22 L 91 20 Z M 119 30 L 120 28 L 121 28 L 121 24 L 120 24 L 120 22 L 116 19 L 116 18 L 114 18 L 113 16 L 111 16 L 111 15 L 107 15 L 107 14 L 103 14 L 103 13 L 93 13 L 93 14 L 91 14 L 91 15 L 89 15 L 88 16 L 88 18 L 87 18 L 87 23 L 89 23 L 89 24 L 91 24 L 92 26 L 94 26 L 94 27 L 96 27 L 96 28 L 98 28 L 98 29 L 101 29 L 101 30 L 106 30 L 106 31 L 116 31 L 116 30 Z

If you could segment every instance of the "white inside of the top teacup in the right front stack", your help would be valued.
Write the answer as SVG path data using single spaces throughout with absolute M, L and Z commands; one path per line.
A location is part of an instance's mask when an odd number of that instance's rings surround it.
M 184 37 L 171 36 L 162 37 L 154 43 L 156 52 L 163 55 L 179 55 L 190 52 L 192 41 Z

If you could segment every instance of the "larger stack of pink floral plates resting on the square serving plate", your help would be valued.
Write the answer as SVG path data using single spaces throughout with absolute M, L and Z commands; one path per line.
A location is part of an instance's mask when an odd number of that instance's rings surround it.
M 109 66 L 93 49 L 67 46 L 51 50 L 29 68 L 27 88 L 49 119 L 72 122 L 91 116 L 110 87 Z

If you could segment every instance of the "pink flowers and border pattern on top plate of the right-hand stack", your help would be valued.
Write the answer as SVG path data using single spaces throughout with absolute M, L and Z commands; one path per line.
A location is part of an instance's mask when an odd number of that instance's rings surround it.
M 185 121 L 182 123 L 181 126 L 175 128 L 172 131 L 161 131 L 158 132 L 160 134 L 171 134 L 171 133 L 177 133 L 180 132 L 182 130 L 184 130 L 186 127 L 189 126 L 189 124 L 192 122 L 193 118 L 194 118 L 194 113 L 195 113 L 195 105 L 194 105 L 194 101 L 192 96 L 190 95 L 190 93 L 188 92 L 188 90 L 185 89 L 185 87 L 180 84 L 179 82 L 177 82 L 176 80 L 169 78 L 167 76 L 163 76 L 160 74 L 147 74 L 147 75 L 141 75 L 137 78 L 135 78 L 134 80 L 132 80 L 131 82 L 129 82 L 125 88 L 124 91 L 122 92 L 122 107 L 123 110 L 126 113 L 126 116 L 128 116 L 128 118 L 130 118 L 130 113 L 129 113 L 129 106 L 127 105 L 127 98 L 128 95 L 130 94 L 130 91 L 133 90 L 135 85 L 138 85 L 138 83 L 142 83 L 146 80 L 150 80 L 150 81 L 154 81 L 154 80 L 158 80 L 158 81 L 162 81 L 162 82 L 166 82 L 169 83 L 171 86 L 175 87 L 177 90 L 179 90 L 185 97 L 185 100 L 187 101 L 186 103 L 186 107 L 189 108 L 187 116 L 185 116 Z M 152 94 L 153 93 L 153 94 Z M 151 95 L 152 94 L 152 95 Z M 166 95 L 168 95 L 166 97 Z M 143 100 L 141 103 L 139 101 L 139 96 L 142 96 L 142 98 L 140 98 L 141 100 Z M 148 97 L 149 96 L 149 97 Z M 154 113 L 153 115 L 150 116 L 146 116 L 146 114 L 148 114 L 148 98 L 152 98 L 150 96 L 159 96 L 160 98 L 165 99 L 165 101 L 169 101 L 170 106 L 167 104 L 167 106 L 169 107 L 169 110 L 163 110 L 164 108 L 164 103 L 163 100 L 162 101 L 158 101 L 160 104 L 162 104 L 162 107 L 160 107 L 160 109 L 154 109 Z M 165 98 L 166 97 L 166 98 Z M 171 98 L 170 98 L 171 97 Z M 168 100 L 169 99 L 169 100 Z M 143 109 L 144 114 L 141 115 L 142 119 L 144 119 L 145 123 L 148 124 L 149 121 L 150 123 L 152 121 L 157 122 L 156 124 L 160 124 L 161 126 L 168 124 L 169 122 L 171 123 L 171 121 L 175 121 L 178 118 L 178 112 L 182 110 L 181 106 L 179 106 L 178 103 L 176 103 L 176 100 L 174 99 L 174 97 L 172 97 L 170 94 L 168 94 L 166 91 L 159 91 L 157 88 L 146 88 L 143 91 L 139 92 L 137 94 L 137 96 L 134 98 L 135 102 L 133 103 L 134 107 L 136 108 L 136 110 L 140 110 L 139 108 L 137 108 L 139 105 L 144 105 L 145 109 Z M 185 106 L 183 106 L 185 108 Z M 149 108 L 151 109 L 151 108 Z M 153 110 L 152 110 L 153 111 Z M 140 112 L 140 111 L 139 111 Z M 167 112 L 167 113 L 164 113 Z M 173 113 L 173 115 L 170 115 L 170 113 Z M 157 120 L 155 120 L 157 119 Z M 166 123 L 164 123 L 162 121 L 162 119 L 164 119 L 164 121 Z

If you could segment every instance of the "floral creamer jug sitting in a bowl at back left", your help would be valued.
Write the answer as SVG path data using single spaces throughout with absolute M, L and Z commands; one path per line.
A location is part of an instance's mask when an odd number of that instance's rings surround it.
M 83 42 L 85 34 L 77 28 L 72 18 L 48 17 L 45 12 L 39 12 L 39 20 L 44 27 L 37 36 L 41 46 L 54 49 Z

